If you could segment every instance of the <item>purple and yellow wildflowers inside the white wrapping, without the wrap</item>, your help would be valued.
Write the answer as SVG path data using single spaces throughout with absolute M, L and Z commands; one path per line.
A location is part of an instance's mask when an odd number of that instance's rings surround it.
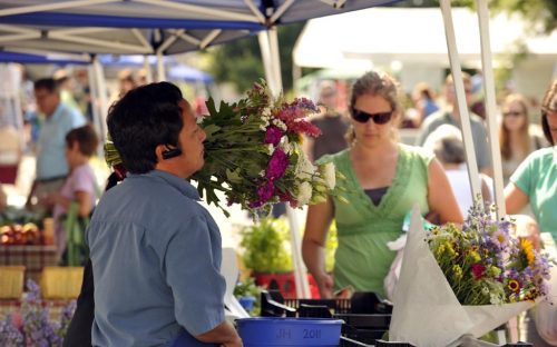
M 452 224 L 428 235 L 431 252 L 462 305 L 536 300 L 548 293 L 550 264 L 530 240 L 511 237 L 511 221 L 492 218 L 476 204 L 462 228 Z

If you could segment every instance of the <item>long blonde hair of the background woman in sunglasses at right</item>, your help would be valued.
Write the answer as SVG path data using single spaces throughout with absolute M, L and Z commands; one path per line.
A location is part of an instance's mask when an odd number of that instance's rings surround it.
M 522 115 L 525 117 L 525 122 L 518 129 L 518 143 L 522 148 L 524 153 L 529 153 L 531 151 L 530 133 L 528 131 L 530 126 L 530 117 L 528 116 L 528 101 L 526 98 L 519 93 L 512 93 L 505 98 L 501 105 L 501 109 L 508 107 L 511 103 L 520 105 L 522 109 Z M 510 148 L 510 131 L 505 127 L 505 119 L 501 120 L 499 126 L 499 146 L 501 147 L 501 156 L 504 159 L 509 160 L 512 157 L 512 149 Z M 522 158 L 524 159 L 524 158 Z

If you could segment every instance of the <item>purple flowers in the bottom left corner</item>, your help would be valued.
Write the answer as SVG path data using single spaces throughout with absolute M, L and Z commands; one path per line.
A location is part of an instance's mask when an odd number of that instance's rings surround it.
M 62 346 L 75 309 L 76 300 L 71 300 L 62 308 L 60 320 L 50 321 L 49 308 L 40 298 L 39 286 L 28 280 L 21 311 L 0 320 L 0 346 Z

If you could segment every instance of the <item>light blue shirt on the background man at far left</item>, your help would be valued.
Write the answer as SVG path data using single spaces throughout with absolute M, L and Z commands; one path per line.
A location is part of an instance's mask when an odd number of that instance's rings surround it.
M 78 111 L 60 102 L 52 116 L 47 117 L 37 143 L 37 179 L 68 175 L 66 135 L 85 126 L 86 119 Z

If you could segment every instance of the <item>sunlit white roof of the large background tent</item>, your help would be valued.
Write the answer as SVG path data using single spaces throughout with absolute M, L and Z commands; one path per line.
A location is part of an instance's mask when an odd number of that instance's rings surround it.
M 460 61 L 481 67 L 477 14 L 469 9 L 452 10 Z M 397 23 L 404 23 L 397 26 Z M 344 59 L 363 59 L 374 65 L 392 60 L 420 65 L 449 66 L 442 14 L 436 8 L 373 8 L 307 22 L 294 48 L 294 62 L 301 67 L 339 67 Z M 531 54 L 557 58 L 557 32 L 528 34 L 518 14 L 500 13 L 489 20 L 495 61 L 517 52 L 524 40 Z M 387 34 L 388 33 L 388 34 Z

